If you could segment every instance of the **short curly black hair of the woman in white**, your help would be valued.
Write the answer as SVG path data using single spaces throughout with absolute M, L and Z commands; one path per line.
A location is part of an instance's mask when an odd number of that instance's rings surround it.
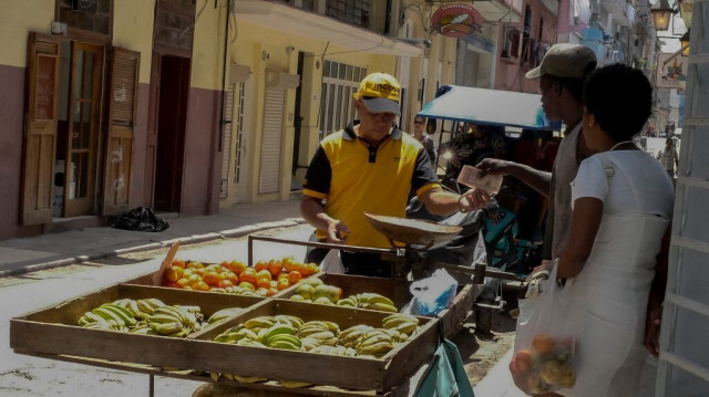
M 621 63 L 607 65 L 588 76 L 584 105 L 606 134 L 627 140 L 653 114 L 653 86 L 638 69 Z

